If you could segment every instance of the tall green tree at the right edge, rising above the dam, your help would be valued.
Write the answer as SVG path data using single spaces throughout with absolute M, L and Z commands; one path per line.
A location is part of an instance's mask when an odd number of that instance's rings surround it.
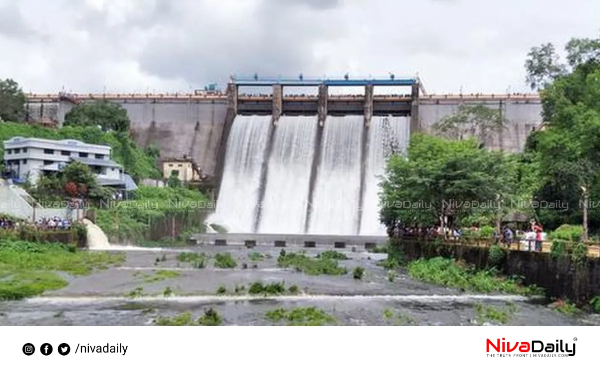
M 550 228 L 581 223 L 585 239 L 588 227 L 600 226 L 598 213 L 588 215 L 587 210 L 587 201 L 600 196 L 600 38 L 574 38 L 565 51 L 566 64 L 553 57 L 554 67 L 546 69 L 556 73 L 545 74 L 540 91 L 545 130 L 528 138 L 526 154 L 543 169 L 535 198 L 569 205 L 567 211 L 540 214 L 540 219 Z M 533 72 L 528 68 L 529 80 L 541 76 Z

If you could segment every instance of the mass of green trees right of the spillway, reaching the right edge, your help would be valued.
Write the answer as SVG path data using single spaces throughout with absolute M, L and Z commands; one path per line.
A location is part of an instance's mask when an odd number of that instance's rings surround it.
M 389 158 L 382 222 L 427 227 L 452 216 L 455 226 L 494 225 L 494 220 L 497 226 L 502 216 L 521 211 L 546 230 L 581 225 L 583 240 L 588 227 L 598 232 L 600 38 L 574 38 L 565 50 L 565 63 L 552 44 L 527 55 L 527 83 L 540 92 L 544 125 L 530 134 L 522 154 L 482 149 L 490 133 L 505 124 L 500 111 L 461 106 L 434 126 L 448 139 L 413 134 L 407 158 Z M 471 205 L 458 210 L 448 200 Z M 478 209 L 475 202 L 491 205 Z

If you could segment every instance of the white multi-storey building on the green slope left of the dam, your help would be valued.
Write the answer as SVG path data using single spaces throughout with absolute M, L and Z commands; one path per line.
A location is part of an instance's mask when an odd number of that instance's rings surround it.
M 35 184 L 40 175 L 59 172 L 68 163 L 79 161 L 92 169 L 101 186 L 136 189 L 123 167 L 110 159 L 110 152 L 110 146 L 73 139 L 13 137 L 4 141 L 4 169 L 12 178 L 29 179 Z

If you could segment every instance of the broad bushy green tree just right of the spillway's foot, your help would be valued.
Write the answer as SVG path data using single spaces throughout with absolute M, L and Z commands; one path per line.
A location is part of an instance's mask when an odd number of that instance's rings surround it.
M 505 154 L 482 149 L 472 139 L 413 134 L 407 158 L 392 155 L 388 161 L 380 220 L 389 229 L 444 226 L 447 216 L 459 225 L 475 213 L 495 215 L 496 202 L 512 187 L 508 163 Z

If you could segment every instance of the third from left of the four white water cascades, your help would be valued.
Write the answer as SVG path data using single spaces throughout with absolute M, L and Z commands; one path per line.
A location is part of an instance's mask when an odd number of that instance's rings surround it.
M 327 117 L 308 233 L 356 234 L 362 130 L 363 116 Z

